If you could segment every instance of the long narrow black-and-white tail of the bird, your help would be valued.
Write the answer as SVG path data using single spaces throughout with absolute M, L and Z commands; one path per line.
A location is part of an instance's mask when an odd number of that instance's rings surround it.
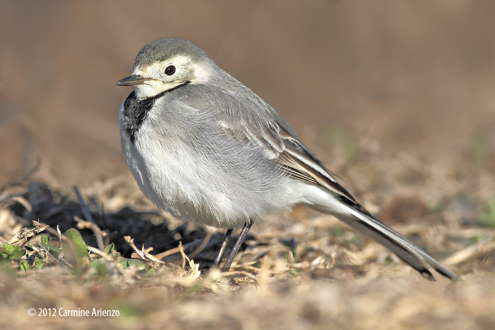
M 452 281 L 459 280 L 455 274 L 442 266 L 432 256 L 389 226 L 373 218 L 373 216 L 359 204 L 347 204 L 346 206 L 350 216 L 348 218 L 342 217 L 341 214 L 339 215 L 339 220 L 345 222 L 359 233 L 369 236 L 380 244 L 388 247 L 405 263 L 421 273 L 427 280 L 436 281 L 435 277 L 430 272 L 431 268 Z

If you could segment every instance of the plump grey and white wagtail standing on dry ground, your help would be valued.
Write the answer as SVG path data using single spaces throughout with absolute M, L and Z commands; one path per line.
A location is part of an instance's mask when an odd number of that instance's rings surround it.
M 143 47 L 117 86 L 135 89 L 119 110 L 121 147 L 145 196 L 159 209 L 232 231 L 222 271 L 252 224 L 304 205 L 330 214 L 389 248 L 424 278 L 457 281 L 420 247 L 372 216 L 263 98 L 193 42 L 165 38 Z

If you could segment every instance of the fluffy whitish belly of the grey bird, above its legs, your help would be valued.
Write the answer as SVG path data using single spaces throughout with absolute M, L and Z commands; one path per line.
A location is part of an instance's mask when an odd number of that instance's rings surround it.
M 157 134 L 149 122 L 137 132 L 134 144 L 122 129 L 121 140 L 131 173 L 146 197 L 176 217 L 219 228 L 239 227 L 288 210 L 298 200 L 299 192 L 287 189 L 292 179 L 264 173 L 266 168 L 256 168 L 259 162 L 251 158 L 225 164 L 199 154 L 184 141 Z M 245 152 L 239 155 L 250 157 Z

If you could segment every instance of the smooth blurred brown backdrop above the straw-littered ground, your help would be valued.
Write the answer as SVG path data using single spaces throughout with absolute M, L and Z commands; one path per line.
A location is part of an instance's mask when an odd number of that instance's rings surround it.
M 494 17 L 490 0 L 3 1 L 0 182 L 37 156 L 62 189 L 133 182 L 115 82 L 164 37 L 204 48 L 337 174 L 346 143 L 493 174 Z

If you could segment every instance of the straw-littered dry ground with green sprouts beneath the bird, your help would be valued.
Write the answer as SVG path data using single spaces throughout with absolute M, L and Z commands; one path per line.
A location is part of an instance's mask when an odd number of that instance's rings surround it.
M 349 166 L 358 167 L 359 159 Z M 446 191 L 459 191 L 456 185 Z M 487 329 L 495 324 L 495 230 L 486 227 L 494 215 L 490 205 L 476 207 L 483 205 L 473 199 L 476 194 L 466 201 L 463 193 L 444 193 L 437 196 L 436 209 L 405 196 L 385 207 L 385 214 L 399 220 L 397 210 L 408 205 L 422 210 L 414 222 L 394 227 L 463 279 L 449 283 L 439 275 L 438 283 L 429 283 L 387 249 L 335 218 L 304 208 L 255 227 L 230 272 L 211 268 L 205 273 L 222 233 L 129 208 L 129 190 L 118 178 L 83 191 L 67 195 L 27 179 L 1 189 L 1 242 L 24 251 L 22 257 L 7 253 L 3 258 L 0 282 L 6 298 L 0 313 L 10 316 L 9 326 L 31 324 L 29 308 L 120 313 L 117 320 L 83 318 L 70 326 L 75 329 L 328 329 L 329 324 Z M 104 209 L 106 204 L 111 209 Z M 28 225 L 33 219 L 42 224 Z M 70 228 L 77 228 L 82 240 L 73 239 Z M 208 233 L 213 235 L 204 248 L 188 258 Z M 161 262 L 153 257 L 171 250 L 179 253 Z M 36 322 L 64 328 L 67 321 Z

